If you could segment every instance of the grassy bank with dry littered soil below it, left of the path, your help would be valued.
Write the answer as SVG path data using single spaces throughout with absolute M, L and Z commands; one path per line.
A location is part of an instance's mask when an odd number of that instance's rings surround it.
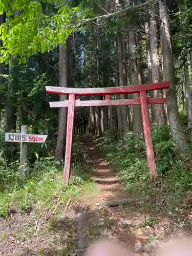
M 75 152 L 76 160 L 82 160 Z M 52 157 L 38 158 L 25 185 L 19 183 L 17 163 L 0 170 L 0 245 L 9 255 L 66 255 L 75 252 L 76 216 L 81 196 L 97 193 L 92 167 L 72 164 L 72 178 L 63 186 L 63 169 Z M 6 172 L 7 168 L 7 172 Z

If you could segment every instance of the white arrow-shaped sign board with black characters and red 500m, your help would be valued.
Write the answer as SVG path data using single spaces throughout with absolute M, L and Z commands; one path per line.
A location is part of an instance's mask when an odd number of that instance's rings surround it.
M 20 134 L 20 133 L 6 133 L 6 142 L 29 142 L 29 143 L 44 143 L 47 135 L 39 134 Z

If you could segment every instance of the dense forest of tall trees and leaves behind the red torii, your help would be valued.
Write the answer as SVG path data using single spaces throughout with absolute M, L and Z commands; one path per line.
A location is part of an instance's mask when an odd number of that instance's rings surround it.
M 158 126 L 169 124 L 178 150 L 187 151 L 185 130 L 190 131 L 192 119 L 189 1 L 22 4 L 1 3 L 2 138 L 4 125 L 6 132 L 19 132 L 21 125 L 29 125 L 30 132 L 48 134 L 49 150 L 40 154 L 53 153 L 61 162 L 67 113 L 66 109 L 58 113 L 58 109 L 49 108 L 49 101 L 58 97 L 47 95 L 46 85 L 93 88 L 170 80 L 167 92 L 150 94 L 168 97 L 167 108 L 152 105 L 151 120 Z M 53 20 L 50 24 L 49 19 Z M 140 135 L 140 107 L 77 109 L 77 134 L 102 135 L 105 131 L 119 139 L 130 132 Z M 9 150 L 7 145 L 9 159 L 16 156 L 10 156 Z M 13 151 L 17 151 L 16 144 L 11 145 Z

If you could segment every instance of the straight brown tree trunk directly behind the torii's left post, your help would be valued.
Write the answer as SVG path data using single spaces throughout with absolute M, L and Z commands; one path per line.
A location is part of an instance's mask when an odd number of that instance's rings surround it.
M 66 48 L 59 45 L 59 87 L 68 87 L 68 43 Z M 60 101 L 66 100 L 66 95 L 60 96 Z M 55 149 L 55 159 L 61 163 L 63 150 L 66 142 L 67 130 L 67 108 L 59 109 L 59 127 L 57 134 L 57 144 Z

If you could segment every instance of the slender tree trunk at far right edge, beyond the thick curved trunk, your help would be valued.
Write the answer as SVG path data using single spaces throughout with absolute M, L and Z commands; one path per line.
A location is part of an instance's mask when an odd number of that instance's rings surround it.
M 186 112 L 188 119 L 188 127 L 192 128 L 192 114 L 191 114 L 191 90 L 190 90 L 190 79 L 188 70 L 188 57 L 185 57 L 184 62 L 184 73 L 185 73 L 185 101 L 186 101 Z

